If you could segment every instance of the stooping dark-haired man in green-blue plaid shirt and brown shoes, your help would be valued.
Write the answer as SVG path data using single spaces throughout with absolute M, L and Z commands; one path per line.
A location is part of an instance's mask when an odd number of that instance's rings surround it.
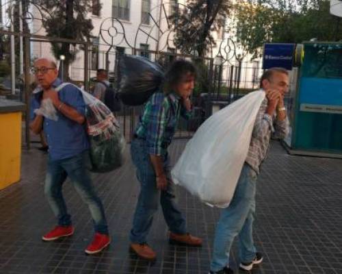
M 131 249 L 146 260 L 156 258 L 146 237 L 159 201 L 170 229 L 170 240 L 192 246 L 202 244 L 200 238 L 187 233 L 185 219 L 174 203 L 168 158 L 168 146 L 179 116 L 190 115 L 189 96 L 194 89 L 195 75 L 191 62 L 176 60 L 172 64 L 166 73 L 166 90 L 155 92 L 148 99 L 131 142 L 131 156 L 141 186 L 130 233 Z

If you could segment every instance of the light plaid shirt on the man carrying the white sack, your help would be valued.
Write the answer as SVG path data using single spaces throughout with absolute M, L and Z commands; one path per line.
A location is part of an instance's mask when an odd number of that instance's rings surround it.
M 276 114 L 270 116 L 266 113 L 268 100 L 265 97 L 255 119 L 250 148 L 246 158 L 246 163 L 258 174 L 260 166 L 266 158 L 269 148 L 269 140 L 272 138 L 283 139 L 289 134 L 289 119 L 278 121 Z

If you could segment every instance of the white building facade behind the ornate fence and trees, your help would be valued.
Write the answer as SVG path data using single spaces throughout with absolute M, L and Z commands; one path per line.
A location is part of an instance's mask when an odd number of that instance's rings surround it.
M 151 14 L 155 18 L 155 21 L 157 24 L 159 24 L 159 12 L 160 12 L 160 3 L 161 0 L 151 0 Z M 98 67 L 99 68 L 105 68 L 105 52 L 109 49 L 109 45 L 106 44 L 106 42 L 101 38 L 100 34 L 102 33 L 105 40 L 107 42 L 111 42 L 110 36 L 106 34 L 106 32 L 102 31 L 101 32 L 101 24 L 103 24 L 103 29 L 109 29 L 111 27 L 112 21 L 111 21 L 111 13 L 112 13 L 112 1 L 111 0 L 101 0 L 102 3 L 102 9 L 101 9 L 101 14 L 100 16 L 94 16 L 92 14 L 89 14 L 89 18 L 92 19 L 92 23 L 94 25 L 94 29 L 92 30 L 92 35 L 94 36 L 99 36 L 100 37 L 100 45 L 99 45 L 99 60 L 98 60 Z M 170 1 L 168 0 L 163 0 L 164 5 L 166 6 L 167 12 L 169 12 L 168 9 L 170 9 Z M 185 4 L 186 0 L 179 0 L 178 3 L 180 4 Z M 142 1 L 141 0 L 130 0 L 130 18 L 129 21 L 124 21 L 120 20 L 121 24 L 118 23 L 118 21 L 114 21 L 114 27 L 118 30 L 119 33 L 125 34 L 127 38 L 127 42 L 122 39 L 123 34 L 117 34 L 114 37 L 114 48 L 111 49 L 111 54 L 109 54 L 109 71 L 114 70 L 114 64 L 115 64 L 115 46 L 117 47 L 124 47 L 125 53 L 132 53 L 132 47 L 136 47 L 137 49 L 140 48 L 140 44 L 148 44 L 149 49 L 155 51 L 157 49 L 157 42 L 153 40 L 155 38 L 156 40 L 159 38 L 159 50 L 162 51 L 167 51 L 168 50 L 168 45 L 170 47 L 174 47 L 172 45 L 171 40 L 173 40 L 173 35 L 172 33 L 168 32 L 168 26 L 167 22 L 165 20 L 165 14 L 163 10 L 161 10 L 161 25 L 160 29 L 164 34 L 159 33 L 158 34 L 158 27 L 153 22 L 152 19 L 150 19 L 150 24 L 149 25 L 141 25 L 141 10 L 142 10 Z M 231 18 L 231 16 L 230 16 Z M 107 20 L 106 20 L 107 19 Z M 227 23 L 230 23 L 229 20 L 227 19 Z M 122 27 L 124 29 L 122 29 Z M 40 28 L 40 23 L 36 21 L 33 26 L 33 32 L 36 32 L 37 29 Z M 139 29 L 140 28 L 140 29 Z M 114 29 L 111 29 L 114 30 Z M 148 36 L 144 33 L 150 34 L 153 38 L 148 38 Z M 40 29 L 40 31 L 37 33 L 40 35 L 46 35 L 44 32 L 44 29 Z M 207 54 L 208 57 L 214 57 L 218 55 L 219 53 L 219 47 L 222 42 L 222 46 L 224 47 L 227 43 L 227 38 L 232 37 L 233 40 L 235 40 L 235 36 L 232 34 L 225 34 L 224 39 L 222 40 L 222 37 L 219 37 L 218 34 L 213 33 L 213 36 L 216 41 L 215 47 L 213 47 L 213 52 L 212 55 L 209 52 Z M 136 40 L 135 40 L 136 38 Z M 38 42 L 32 42 L 31 45 L 31 54 L 33 58 L 38 58 L 38 57 L 49 57 L 53 58 L 53 54 L 51 53 L 51 45 L 47 42 L 44 43 L 38 43 Z M 222 51 L 222 55 L 224 55 L 224 51 Z M 153 57 L 153 56 L 152 56 Z M 244 58 L 244 62 L 250 60 L 250 55 L 247 55 Z M 90 63 L 89 63 L 90 64 Z M 235 64 L 237 65 L 237 60 L 235 58 L 230 60 L 230 64 Z M 225 63 L 227 65 L 227 63 Z M 84 78 L 84 54 L 83 51 L 79 51 L 77 54 L 77 58 L 75 62 L 70 66 L 70 71 L 69 75 L 72 79 L 82 81 Z M 248 66 L 254 66 L 252 63 L 248 64 Z M 261 66 L 261 62 L 259 62 L 259 66 Z M 223 71 L 223 79 L 227 79 L 229 77 L 228 75 L 228 66 L 225 66 L 224 71 Z M 259 69 L 261 71 L 261 69 Z M 246 69 L 243 70 L 243 73 L 245 75 L 241 75 L 241 78 L 246 79 L 244 82 L 252 82 L 252 69 Z M 96 74 L 96 71 L 90 71 L 90 77 L 94 77 Z

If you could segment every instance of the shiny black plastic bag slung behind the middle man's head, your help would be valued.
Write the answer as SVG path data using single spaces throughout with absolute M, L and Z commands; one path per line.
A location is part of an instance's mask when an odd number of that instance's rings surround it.
M 122 55 L 119 62 L 119 97 L 125 105 L 142 105 L 163 83 L 161 66 L 137 55 Z

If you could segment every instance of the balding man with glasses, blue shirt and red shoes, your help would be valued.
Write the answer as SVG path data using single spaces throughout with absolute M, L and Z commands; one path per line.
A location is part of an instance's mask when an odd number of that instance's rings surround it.
M 55 91 L 55 88 L 62 84 L 57 78 L 55 62 L 45 58 L 38 59 L 34 62 L 32 71 L 36 75 L 40 90 L 37 90 L 31 99 L 29 127 L 35 134 L 44 129 L 47 137 L 49 161 L 44 193 L 58 220 L 58 225 L 42 236 L 42 240 L 51 241 L 74 234 L 74 227 L 62 195 L 62 186 L 66 177 L 69 177 L 70 183 L 88 205 L 94 221 L 96 233 L 86 248 L 86 253 L 98 253 L 109 245 L 110 238 L 103 204 L 96 195 L 88 171 L 89 143 L 84 125 L 86 104 L 75 86 L 68 85 L 59 92 Z M 57 111 L 57 121 L 40 114 L 44 113 L 42 100 L 51 100 Z

